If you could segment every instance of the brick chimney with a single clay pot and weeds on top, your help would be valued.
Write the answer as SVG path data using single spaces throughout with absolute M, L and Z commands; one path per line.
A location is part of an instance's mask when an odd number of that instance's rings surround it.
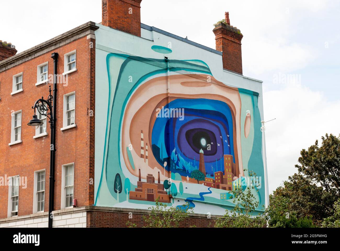
M 215 29 L 216 50 L 222 51 L 223 69 L 242 75 L 240 30 L 230 25 L 229 12 L 224 14 L 225 23 L 217 23 Z

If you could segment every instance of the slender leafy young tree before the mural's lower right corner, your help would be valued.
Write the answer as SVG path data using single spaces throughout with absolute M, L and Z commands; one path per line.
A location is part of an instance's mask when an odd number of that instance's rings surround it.
M 256 173 L 249 171 L 249 176 L 256 177 Z M 260 184 L 248 184 L 245 190 L 242 187 L 237 187 L 232 191 L 235 207 L 230 211 L 226 210 L 222 218 L 215 220 L 215 227 L 265 227 L 266 213 L 256 213 L 255 211 L 259 202 L 253 191 L 258 192 L 259 186 Z

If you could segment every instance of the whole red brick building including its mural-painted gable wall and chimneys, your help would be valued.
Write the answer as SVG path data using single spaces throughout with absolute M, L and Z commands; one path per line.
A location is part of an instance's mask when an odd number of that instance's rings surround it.
M 140 5 L 103 0 L 101 23 L 19 54 L 0 42 L 0 227 L 47 227 L 49 198 L 53 227 L 142 226 L 157 198 L 191 201 L 190 224 L 208 226 L 233 208 L 249 171 L 265 180 L 262 82 L 242 75 L 243 35 L 229 13 L 212 49 L 141 24 Z M 49 118 L 27 123 L 54 72 L 50 191 Z M 252 193 L 260 209 L 265 186 Z

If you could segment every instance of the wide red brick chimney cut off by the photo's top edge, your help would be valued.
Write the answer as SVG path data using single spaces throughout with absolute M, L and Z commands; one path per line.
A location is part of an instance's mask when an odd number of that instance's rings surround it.
M 142 0 L 102 0 L 102 25 L 140 36 Z

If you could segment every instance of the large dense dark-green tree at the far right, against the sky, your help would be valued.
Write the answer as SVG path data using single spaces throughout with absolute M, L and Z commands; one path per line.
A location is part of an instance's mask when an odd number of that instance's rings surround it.
M 269 225 L 331 226 L 337 219 L 335 202 L 340 195 L 340 137 L 326 134 L 320 147 L 316 141 L 300 153 L 300 165 L 295 165 L 298 173 L 270 195 Z

